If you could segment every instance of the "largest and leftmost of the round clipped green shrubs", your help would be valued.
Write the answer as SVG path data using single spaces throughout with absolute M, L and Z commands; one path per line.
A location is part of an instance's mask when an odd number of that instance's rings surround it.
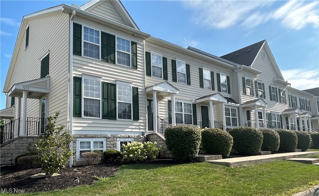
M 180 162 L 192 161 L 198 156 L 201 132 L 191 126 L 172 126 L 165 130 L 167 149 L 173 159 Z

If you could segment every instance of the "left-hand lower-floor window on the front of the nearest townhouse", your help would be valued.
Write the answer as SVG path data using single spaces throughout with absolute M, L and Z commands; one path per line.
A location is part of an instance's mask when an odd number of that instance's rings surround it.
M 83 78 L 83 116 L 100 117 L 101 81 Z

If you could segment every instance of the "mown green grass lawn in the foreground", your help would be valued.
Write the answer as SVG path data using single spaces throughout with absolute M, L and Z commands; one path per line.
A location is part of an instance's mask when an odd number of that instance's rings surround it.
M 210 163 L 122 166 L 110 178 L 92 186 L 24 194 L 42 196 L 268 196 L 292 195 L 319 184 L 319 167 L 292 161 L 273 161 L 229 168 Z

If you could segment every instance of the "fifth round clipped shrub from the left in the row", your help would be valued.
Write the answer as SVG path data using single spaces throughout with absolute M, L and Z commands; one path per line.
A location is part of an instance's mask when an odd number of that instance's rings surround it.
M 280 136 L 280 152 L 295 152 L 298 144 L 298 137 L 296 131 L 278 129 L 277 130 Z

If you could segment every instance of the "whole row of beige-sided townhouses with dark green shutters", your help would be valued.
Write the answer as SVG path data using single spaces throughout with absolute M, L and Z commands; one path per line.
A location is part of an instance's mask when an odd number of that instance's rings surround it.
M 174 125 L 319 129 L 318 95 L 289 85 L 266 40 L 217 57 L 140 31 L 120 0 L 51 7 L 22 19 L 3 87 L 1 166 L 55 111 L 74 138 L 70 166 Z

